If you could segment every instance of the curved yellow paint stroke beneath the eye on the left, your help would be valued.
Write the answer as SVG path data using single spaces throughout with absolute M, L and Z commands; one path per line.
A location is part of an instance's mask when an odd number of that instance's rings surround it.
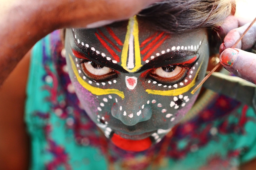
M 77 81 L 83 86 L 85 89 L 87 89 L 89 92 L 91 92 L 94 95 L 108 95 L 108 94 L 116 94 L 120 96 L 122 99 L 124 99 L 124 92 L 121 92 L 117 89 L 101 89 L 98 87 L 93 87 L 87 82 L 85 82 L 79 75 L 78 70 L 76 69 L 76 65 L 74 64 L 74 61 L 69 54 L 70 62 L 71 62 L 71 67 L 74 72 L 74 75 L 76 76 Z

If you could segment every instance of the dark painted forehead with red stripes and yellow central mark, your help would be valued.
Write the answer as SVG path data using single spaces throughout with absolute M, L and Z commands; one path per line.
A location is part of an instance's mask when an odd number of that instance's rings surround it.
M 174 51 L 198 51 L 206 36 L 205 30 L 184 34 L 155 31 L 136 17 L 97 29 L 71 31 L 73 49 L 80 49 L 92 58 L 104 58 L 128 72 Z

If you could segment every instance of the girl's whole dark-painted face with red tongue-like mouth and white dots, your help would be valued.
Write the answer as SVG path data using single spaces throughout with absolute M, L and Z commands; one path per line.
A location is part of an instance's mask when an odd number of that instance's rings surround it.
M 65 48 L 84 110 L 115 145 L 132 151 L 159 142 L 191 109 L 209 55 L 205 29 L 171 35 L 136 17 L 69 29 Z

